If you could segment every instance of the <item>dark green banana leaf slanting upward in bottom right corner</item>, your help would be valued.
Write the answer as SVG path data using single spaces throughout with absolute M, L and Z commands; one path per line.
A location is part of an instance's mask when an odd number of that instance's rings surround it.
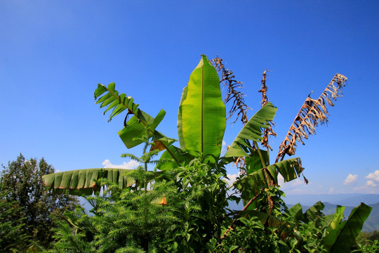
M 355 238 L 362 229 L 364 221 L 370 215 L 371 209 L 368 205 L 361 203 L 361 205 L 352 209 L 347 221 L 340 222 L 335 229 L 329 231 L 323 240 L 323 244 L 328 249 L 328 252 L 349 252 L 350 247 L 355 242 Z M 335 225 L 335 223 L 332 224 L 333 226 Z

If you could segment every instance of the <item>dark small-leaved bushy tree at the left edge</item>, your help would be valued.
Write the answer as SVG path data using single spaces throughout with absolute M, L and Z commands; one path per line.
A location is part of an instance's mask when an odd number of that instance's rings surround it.
M 48 247 L 53 241 L 50 230 L 55 226 L 50 215 L 61 218 L 65 210 L 74 209 L 76 198 L 46 192 L 42 176 L 53 173 L 54 168 L 44 158 L 25 160 L 19 155 L 17 160 L 8 162 L 8 166 L 3 168 L 0 189 L 2 226 L 6 229 L 9 224 L 14 224 L 13 239 L 23 238 L 15 241 L 22 248 L 32 242 Z M 7 237 L 0 237 L 1 243 Z M 9 245 L 11 242 L 9 240 Z

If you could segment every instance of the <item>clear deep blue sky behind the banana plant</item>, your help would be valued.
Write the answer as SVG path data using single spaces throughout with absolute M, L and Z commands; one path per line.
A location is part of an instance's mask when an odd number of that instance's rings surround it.
M 117 131 L 93 91 L 116 83 L 140 108 L 166 117 L 158 130 L 177 138 L 182 88 L 201 54 L 224 59 L 244 82 L 246 103 L 279 108 L 277 154 L 310 91 L 318 98 L 335 73 L 344 96 L 298 146 L 310 184 L 295 193 L 379 193 L 379 1 L 0 1 L 0 163 L 45 157 L 55 169 L 128 163 Z M 230 145 L 241 124 L 228 124 Z M 230 167 L 229 173 L 237 169 Z

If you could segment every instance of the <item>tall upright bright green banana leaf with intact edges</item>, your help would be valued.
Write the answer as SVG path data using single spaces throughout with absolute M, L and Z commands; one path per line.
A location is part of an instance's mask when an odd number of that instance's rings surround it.
M 218 73 L 202 56 L 183 90 L 178 113 L 178 136 L 181 148 L 191 155 L 220 156 L 226 126 Z

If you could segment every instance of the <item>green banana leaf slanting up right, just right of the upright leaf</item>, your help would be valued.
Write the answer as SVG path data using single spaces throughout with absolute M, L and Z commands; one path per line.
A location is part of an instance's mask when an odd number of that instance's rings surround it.
M 241 129 L 237 137 L 234 139 L 232 145 L 227 150 L 225 157 L 246 157 L 248 152 L 253 150 L 251 141 L 262 141 L 262 129 L 270 127 L 270 121 L 274 119 L 277 108 L 272 103 L 267 103 L 260 108 L 258 112 L 251 117 L 246 125 Z

